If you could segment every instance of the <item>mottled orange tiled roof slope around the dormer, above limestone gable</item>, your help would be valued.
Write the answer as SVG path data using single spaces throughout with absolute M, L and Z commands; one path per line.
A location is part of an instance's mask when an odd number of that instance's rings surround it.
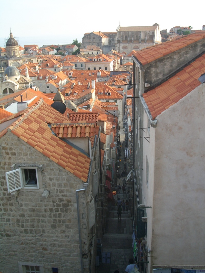
M 39 100 L 9 129 L 34 149 L 86 182 L 90 158 L 53 135 L 46 119 L 68 121 L 67 115 L 60 114 L 43 100 Z

